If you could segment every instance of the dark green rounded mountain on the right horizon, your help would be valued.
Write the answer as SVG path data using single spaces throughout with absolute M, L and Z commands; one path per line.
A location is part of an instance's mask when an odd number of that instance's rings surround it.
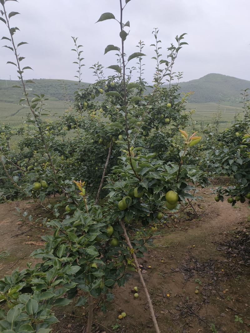
M 182 92 L 193 91 L 192 103 L 237 103 L 241 90 L 250 88 L 250 81 L 222 74 L 207 74 L 200 79 L 180 83 Z

